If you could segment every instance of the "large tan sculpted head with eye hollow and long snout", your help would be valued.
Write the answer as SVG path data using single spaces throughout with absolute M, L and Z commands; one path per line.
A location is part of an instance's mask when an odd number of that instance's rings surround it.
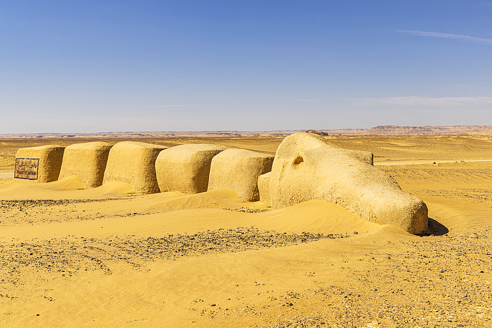
M 275 155 L 269 192 L 273 208 L 319 199 L 412 234 L 427 230 L 423 201 L 401 191 L 393 178 L 361 161 L 358 154 L 337 149 L 315 134 L 297 133 L 283 140 Z

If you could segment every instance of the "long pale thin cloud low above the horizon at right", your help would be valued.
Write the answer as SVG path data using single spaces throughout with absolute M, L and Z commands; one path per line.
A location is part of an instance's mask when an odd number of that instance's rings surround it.
M 403 105 L 403 106 L 431 106 L 456 107 L 492 105 L 492 97 L 389 97 L 389 98 L 349 98 L 348 102 L 355 106 L 376 105 Z

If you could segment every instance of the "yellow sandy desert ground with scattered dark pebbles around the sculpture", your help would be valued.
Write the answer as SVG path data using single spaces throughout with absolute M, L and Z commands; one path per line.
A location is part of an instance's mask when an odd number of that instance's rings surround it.
M 316 200 L 14 181 L 17 149 L 95 140 L 0 140 L 0 326 L 491 327 L 492 136 L 327 139 L 373 152 L 426 202 L 431 234 Z M 274 154 L 281 140 L 135 141 Z

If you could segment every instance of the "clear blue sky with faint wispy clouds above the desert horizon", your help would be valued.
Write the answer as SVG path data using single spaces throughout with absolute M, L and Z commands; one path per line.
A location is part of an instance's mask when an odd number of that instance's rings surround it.
M 0 133 L 492 125 L 492 1 L 3 1 Z

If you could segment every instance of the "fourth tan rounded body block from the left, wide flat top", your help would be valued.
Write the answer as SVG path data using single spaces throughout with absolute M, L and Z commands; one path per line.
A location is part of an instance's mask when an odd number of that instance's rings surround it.
M 219 145 L 197 144 L 162 150 L 155 161 L 160 191 L 184 194 L 207 191 L 212 158 L 225 149 Z

